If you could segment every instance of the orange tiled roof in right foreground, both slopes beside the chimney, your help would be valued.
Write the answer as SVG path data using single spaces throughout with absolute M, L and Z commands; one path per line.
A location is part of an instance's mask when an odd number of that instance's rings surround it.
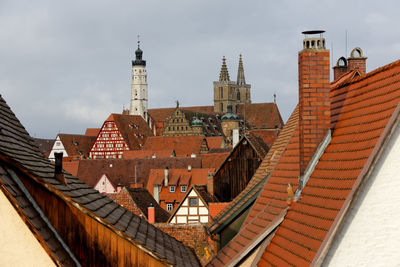
M 400 113 L 400 61 L 331 86 L 332 139 L 301 196 L 288 208 L 287 184 L 299 177 L 299 129 L 257 198 L 239 234 L 211 265 L 226 265 L 287 210 L 259 262 L 320 264 L 360 184 L 367 179 Z

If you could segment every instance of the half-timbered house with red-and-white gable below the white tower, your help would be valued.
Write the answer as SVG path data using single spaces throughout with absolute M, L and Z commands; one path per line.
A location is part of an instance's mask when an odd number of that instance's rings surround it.
M 122 158 L 126 150 L 141 149 L 153 132 L 139 115 L 111 114 L 94 142 L 90 157 L 93 159 Z

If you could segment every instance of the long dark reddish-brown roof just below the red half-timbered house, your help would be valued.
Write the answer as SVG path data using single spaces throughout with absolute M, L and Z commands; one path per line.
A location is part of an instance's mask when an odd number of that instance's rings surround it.
M 200 158 L 150 158 L 150 159 L 95 159 L 79 161 L 77 176 L 79 179 L 94 187 L 98 179 L 106 174 L 114 184 L 129 186 L 135 183 L 147 185 L 151 169 L 158 168 L 193 168 L 201 166 Z

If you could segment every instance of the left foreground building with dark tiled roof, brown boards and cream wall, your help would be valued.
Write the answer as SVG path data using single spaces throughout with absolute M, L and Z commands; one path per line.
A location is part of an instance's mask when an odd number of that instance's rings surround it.
M 191 248 L 46 159 L 0 96 L 0 265 L 200 266 Z

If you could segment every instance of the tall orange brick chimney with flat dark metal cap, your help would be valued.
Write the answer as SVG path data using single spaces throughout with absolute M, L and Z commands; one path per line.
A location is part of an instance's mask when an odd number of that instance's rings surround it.
M 331 124 L 329 50 L 325 49 L 324 32 L 303 32 L 303 50 L 299 52 L 300 177 Z

